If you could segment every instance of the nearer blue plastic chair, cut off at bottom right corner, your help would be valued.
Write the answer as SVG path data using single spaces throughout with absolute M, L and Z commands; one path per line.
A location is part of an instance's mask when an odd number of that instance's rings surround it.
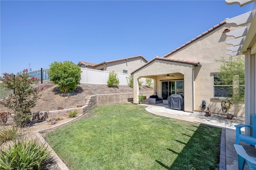
M 234 148 L 238 154 L 238 170 L 243 170 L 246 162 L 250 170 L 256 170 L 256 158 L 249 156 L 242 145 L 234 144 Z

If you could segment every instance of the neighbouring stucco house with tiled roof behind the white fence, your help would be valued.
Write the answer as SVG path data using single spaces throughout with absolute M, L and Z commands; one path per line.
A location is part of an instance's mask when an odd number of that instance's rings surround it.
M 95 70 L 103 70 L 109 72 L 114 71 L 118 73 L 130 74 L 133 70 L 144 65 L 147 62 L 148 61 L 142 55 L 138 55 L 112 61 L 104 61 L 99 64 L 80 61 L 78 65 L 81 68 L 90 68 Z

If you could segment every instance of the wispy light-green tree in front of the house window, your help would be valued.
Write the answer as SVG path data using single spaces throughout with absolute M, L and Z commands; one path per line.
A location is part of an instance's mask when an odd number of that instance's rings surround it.
M 244 56 L 230 57 L 228 61 L 225 61 L 222 57 L 222 59 L 217 61 L 222 62 L 219 69 L 220 73 L 216 75 L 221 81 L 216 81 L 215 83 L 233 85 L 230 90 L 232 96 L 230 96 L 229 100 L 235 102 L 244 101 Z

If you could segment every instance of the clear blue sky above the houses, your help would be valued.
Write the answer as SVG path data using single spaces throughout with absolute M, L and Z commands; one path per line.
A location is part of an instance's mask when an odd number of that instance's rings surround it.
M 215 1 L 0 1 L 0 73 L 54 61 L 162 57 L 252 10 Z

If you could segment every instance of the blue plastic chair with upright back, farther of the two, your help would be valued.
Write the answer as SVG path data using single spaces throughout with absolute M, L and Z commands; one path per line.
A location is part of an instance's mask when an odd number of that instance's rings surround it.
M 235 144 L 238 145 L 240 143 L 240 141 L 243 141 L 243 142 L 248 143 L 253 146 L 256 145 L 256 115 L 252 115 L 252 125 L 240 124 L 240 125 L 235 125 L 235 127 L 236 127 L 236 142 L 235 142 Z M 241 134 L 242 127 L 251 127 L 253 129 L 253 135 L 248 136 L 248 135 Z

